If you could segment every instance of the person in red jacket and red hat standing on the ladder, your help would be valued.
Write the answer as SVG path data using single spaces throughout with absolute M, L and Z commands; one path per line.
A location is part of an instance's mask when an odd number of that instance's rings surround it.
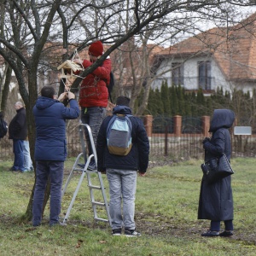
M 90 44 L 88 53 L 90 61 L 84 60 L 82 66 L 90 67 L 101 55 L 103 55 L 103 44 L 96 41 Z M 74 60 L 80 63 L 79 60 Z M 81 120 L 83 124 L 90 126 L 93 140 L 96 146 L 96 139 L 102 120 L 106 117 L 108 106 L 108 84 L 110 81 L 111 60 L 108 57 L 103 61 L 102 66 L 97 67 L 87 75 L 81 84 L 79 92 L 79 105 L 81 107 Z M 88 139 L 87 139 L 88 140 Z M 89 140 L 88 140 L 89 141 Z M 89 155 L 92 154 L 89 141 Z M 96 169 L 94 160 L 90 161 L 90 169 Z

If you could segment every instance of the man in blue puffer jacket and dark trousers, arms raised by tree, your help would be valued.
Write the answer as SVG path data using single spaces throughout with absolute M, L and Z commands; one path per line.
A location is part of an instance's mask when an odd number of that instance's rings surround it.
M 68 98 L 70 108 L 61 101 Z M 66 119 L 79 117 L 79 105 L 72 92 L 63 92 L 59 98 L 52 86 L 44 86 L 33 107 L 36 123 L 36 186 L 32 204 L 32 225 L 42 221 L 44 190 L 50 177 L 49 225 L 59 224 L 61 187 L 64 161 L 67 157 Z

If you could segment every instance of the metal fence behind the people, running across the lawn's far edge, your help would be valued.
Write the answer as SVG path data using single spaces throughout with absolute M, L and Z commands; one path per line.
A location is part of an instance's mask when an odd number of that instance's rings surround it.
M 204 150 L 201 132 L 201 118 L 183 119 L 182 133 L 176 137 L 173 133 L 172 119 L 153 119 L 152 136 L 149 137 L 150 160 L 188 160 L 203 159 Z M 232 142 L 232 157 L 255 157 L 256 135 L 234 135 L 230 131 Z M 4 137 L 0 141 L 0 160 L 13 158 L 12 140 Z M 67 151 L 68 157 L 77 157 L 81 153 L 79 142 L 79 120 L 67 122 Z M 57 154 L 57 152 L 56 152 Z

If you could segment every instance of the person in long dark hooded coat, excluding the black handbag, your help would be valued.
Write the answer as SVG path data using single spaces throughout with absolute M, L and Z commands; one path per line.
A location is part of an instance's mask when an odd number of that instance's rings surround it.
M 232 110 L 214 110 L 209 130 L 212 132 L 212 137 L 203 141 L 206 158 L 219 157 L 224 153 L 230 160 L 231 142 L 228 129 L 233 125 L 234 120 L 235 113 Z M 216 183 L 209 184 L 204 174 L 201 181 L 198 219 L 210 219 L 211 227 L 201 236 L 232 236 L 233 217 L 231 177 L 224 177 Z M 219 233 L 221 221 L 224 221 L 225 230 Z

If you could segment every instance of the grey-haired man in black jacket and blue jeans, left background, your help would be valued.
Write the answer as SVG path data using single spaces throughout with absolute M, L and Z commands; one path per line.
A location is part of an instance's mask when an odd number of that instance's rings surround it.
M 14 165 L 10 171 L 28 172 L 24 166 L 24 141 L 27 137 L 26 109 L 22 102 L 15 102 L 16 115 L 9 123 L 9 139 L 13 140 Z

